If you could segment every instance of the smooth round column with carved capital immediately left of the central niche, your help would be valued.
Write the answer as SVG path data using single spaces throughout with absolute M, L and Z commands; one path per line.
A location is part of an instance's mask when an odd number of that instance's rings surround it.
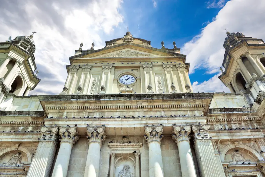
M 100 148 L 106 139 L 105 126 L 87 127 L 88 152 L 84 177 L 98 177 Z

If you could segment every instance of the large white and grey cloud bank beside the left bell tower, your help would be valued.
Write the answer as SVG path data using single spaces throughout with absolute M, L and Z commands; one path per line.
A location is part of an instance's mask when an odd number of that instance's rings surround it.
M 35 62 L 41 82 L 30 94 L 59 94 L 67 77 L 65 65 L 79 48 L 105 46 L 101 37 L 113 35 L 123 22 L 122 0 L 1 1 L 0 40 L 34 34 Z M 15 10 L 14 10 L 15 9 Z M 117 35 L 117 34 L 115 34 Z M 120 34 L 122 36 L 122 34 Z

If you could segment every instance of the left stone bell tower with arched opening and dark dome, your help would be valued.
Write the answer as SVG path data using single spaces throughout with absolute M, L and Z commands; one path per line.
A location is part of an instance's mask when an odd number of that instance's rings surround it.
M 10 94 L 27 96 L 37 86 L 35 50 L 33 35 L 0 42 L 0 101 Z

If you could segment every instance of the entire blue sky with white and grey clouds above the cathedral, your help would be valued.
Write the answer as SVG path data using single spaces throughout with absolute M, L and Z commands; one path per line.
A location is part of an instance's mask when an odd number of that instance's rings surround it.
M 223 42 L 229 32 L 265 40 L 265 0 L 1 0 L 0 41 L 34 34 L 38 77 L 30 92 L 59 94 L 67 78 L 65 65 L 80 43 L 83 50 L 123 37 L 150 40 L 152 47 L 173 48 L 191 63 L 194 92 L 229 92 L 218 79 Z

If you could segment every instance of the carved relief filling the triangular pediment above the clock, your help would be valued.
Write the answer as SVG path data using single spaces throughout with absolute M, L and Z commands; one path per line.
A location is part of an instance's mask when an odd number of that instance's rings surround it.
M 103 58 L 109 58 L 109 57 L 151 57 L 153 55 L 147 54 L 147 53 L 139 53 L 138 51 L 132 51 L 132 50 L 120 50 L 117 51 L 116 53 L 110 53 L 107 55 L 103 55 L 100 57 Z

